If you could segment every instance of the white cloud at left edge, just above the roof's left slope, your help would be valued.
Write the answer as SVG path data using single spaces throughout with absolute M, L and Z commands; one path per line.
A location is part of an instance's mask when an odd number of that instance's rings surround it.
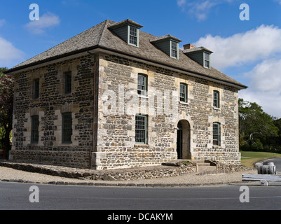
M 15 46 L 0 36 L 0 66 L 10 67 L 22 61 L 25 53 L 15 48 Z

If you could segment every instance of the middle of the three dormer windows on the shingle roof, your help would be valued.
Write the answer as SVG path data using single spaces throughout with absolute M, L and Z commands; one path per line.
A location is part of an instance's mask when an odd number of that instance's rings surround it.
M 181 40 L 178 38 L 171 35 L 165 35 L 156 37 L 150 42 L 170 57 L 179 59 L 179 42 L 181 42 Z

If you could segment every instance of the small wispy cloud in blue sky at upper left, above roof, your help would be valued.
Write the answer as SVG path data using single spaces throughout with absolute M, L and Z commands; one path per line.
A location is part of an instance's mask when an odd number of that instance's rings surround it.
M 60 18 L 53 13 L 46 13 L 40 16 L 39 20 L 31 21 L 25 27 L 33 34 L 42 34 L 47 28 L 60 24 Z

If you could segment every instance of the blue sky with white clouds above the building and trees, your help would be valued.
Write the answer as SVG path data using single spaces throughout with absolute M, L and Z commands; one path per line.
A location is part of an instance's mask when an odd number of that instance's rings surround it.
M 30 20 L 32 3 L 39 6 L 38 21 Z M 180 48 L 192 43 L 212 50 L 211 65 L 248 86 L 240 98 L 281 118 L 281 0 L 0 0 L 0 12 L 0 67 L 104 20 L 130 19 L 149 34 L 181 39 Z

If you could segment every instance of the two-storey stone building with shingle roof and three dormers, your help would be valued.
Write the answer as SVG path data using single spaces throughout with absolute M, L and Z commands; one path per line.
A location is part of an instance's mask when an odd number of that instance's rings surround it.
M 90 169 L 239 164 L 238 91 L 212 51 L 106 20 L 15 75 L 10 159 Z

